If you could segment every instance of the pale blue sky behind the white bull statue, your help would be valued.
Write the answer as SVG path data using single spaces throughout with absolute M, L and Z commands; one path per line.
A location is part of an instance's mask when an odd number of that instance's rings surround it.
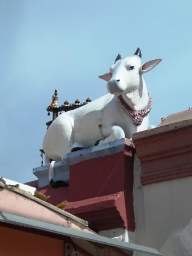
M 141 48 L 163 61 L 145 74 L 150 124 L 191 102 L 192 2 L 0 0 L 1 173 L 26 182 L 41 165 L 46 106 L 106 93 L 98 75 Z

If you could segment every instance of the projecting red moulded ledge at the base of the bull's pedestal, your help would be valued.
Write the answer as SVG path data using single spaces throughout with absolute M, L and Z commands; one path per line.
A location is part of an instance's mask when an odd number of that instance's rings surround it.
M 92 229 L 124 228 L 126 222 L 124 200 L 124 193 L 121 191 L 112 195 L 68 203 L 65 210 L 86 219 Z

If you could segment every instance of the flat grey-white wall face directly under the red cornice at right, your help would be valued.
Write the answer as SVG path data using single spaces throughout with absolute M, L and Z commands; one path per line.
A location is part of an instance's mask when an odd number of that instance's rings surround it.
M 161 249 L 192 217 L 192 177 L 144 186 L 146 243 Z

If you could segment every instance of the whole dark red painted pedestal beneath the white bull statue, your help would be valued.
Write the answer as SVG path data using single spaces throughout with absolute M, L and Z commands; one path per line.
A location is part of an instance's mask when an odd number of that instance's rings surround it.
M 31 185 L 32 186 L 32 185 Z M 47 202 L 67 202 L 66 211 L 89 221 L 95 230 L 135 229 L 133 209 L 133 155 L 125 151 L 70 166 L 70 185 L 38 191 L 50 195 Z

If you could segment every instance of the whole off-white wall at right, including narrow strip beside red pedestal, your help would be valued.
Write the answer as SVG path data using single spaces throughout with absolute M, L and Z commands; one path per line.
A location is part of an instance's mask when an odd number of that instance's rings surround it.
M 142 186 L 139 182 L 140 174 L 141 165 L 139 159 L 135 157 L 135 242 L 154 247 L 157 250 L 162 248 L 163 255 L 185 256 L 185 254 L 179 253 L 181 253 L 184 243 L 188 249 L 189 245 L 192 244 L 190 222 L 192 217 L 192 177 Z M 187 226 L 189 222 L 190 224 Z M 187 231 L 184 231 L 185 227 Z M 183 235 L 183 242 L 181 242 L 181 234 Z M 171 247 L 172 251 L 170 250 Z M 178 254 L 175 253 L 175 250 Z M 172 254 L 169 254 L 170 251 Z M 192 250 L 190 252 L 189 255 L 192 255 Z M 143 254 L 138 253 L 137 255 Z M 188 254 L 186 255 L 188 256 Z

